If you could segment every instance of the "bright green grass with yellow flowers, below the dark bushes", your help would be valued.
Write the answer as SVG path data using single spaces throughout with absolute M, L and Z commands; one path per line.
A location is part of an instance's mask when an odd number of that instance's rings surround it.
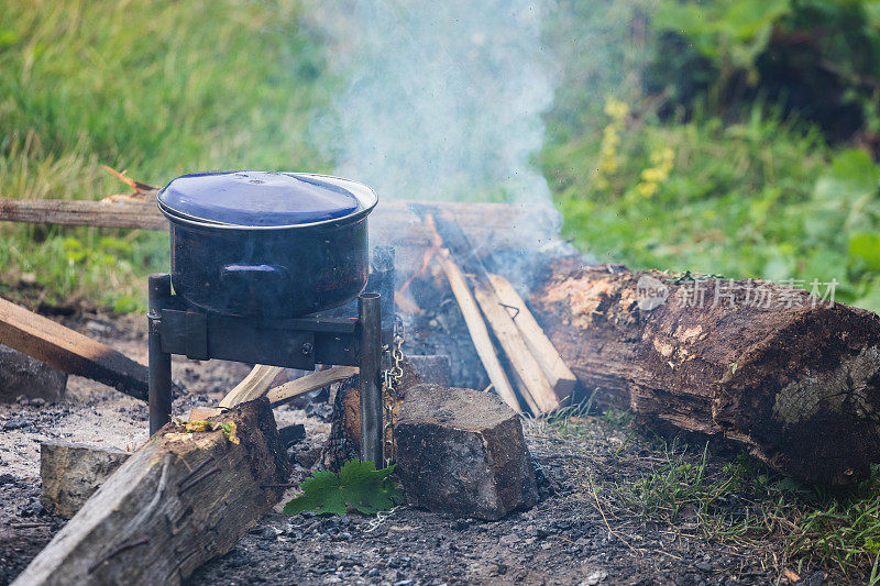
M 867 154 L 833 152 L 762 106 L 737 123 L 661 123 L 639 104 L 602 120 L 542 158 L 587 254 L 806 289 L 836 279 L 837 300 L 880 309 L 880 166 Z

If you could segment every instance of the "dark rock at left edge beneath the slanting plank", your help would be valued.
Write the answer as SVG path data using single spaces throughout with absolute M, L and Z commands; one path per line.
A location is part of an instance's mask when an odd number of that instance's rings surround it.
M 0 344 L 0 402 L 15 402 L 22 396 L 58 401 L 66 386 L 65 373 Z

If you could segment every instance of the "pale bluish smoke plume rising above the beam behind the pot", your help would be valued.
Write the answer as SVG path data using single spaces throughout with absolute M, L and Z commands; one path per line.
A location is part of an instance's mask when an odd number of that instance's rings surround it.
M 338 175 L 381 198 L 551 204 L 532 157 L 557 68 L 546 0 L 315 3 L 342 81 L 316 123 Z

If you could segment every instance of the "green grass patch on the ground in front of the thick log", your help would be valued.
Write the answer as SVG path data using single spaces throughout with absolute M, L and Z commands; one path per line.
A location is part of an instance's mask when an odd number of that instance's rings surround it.
M 832 494 L 746 455 L 712 469 L 705 451 L 694 457 L 667 446 L 652 472 L 620 482 L 613 498 L 645 521 L 688 520 L 708 539 L 758 549 L 778 543 L 795 565 L 820 565 L 857 579 L 871 573 L 880 555 L 879 491 L 880 467 L 857 487 Z

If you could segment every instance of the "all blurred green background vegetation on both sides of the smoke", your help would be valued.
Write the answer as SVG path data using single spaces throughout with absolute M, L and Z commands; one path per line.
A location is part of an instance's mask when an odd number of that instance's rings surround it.
M 101 165 L 160 185 L 332 167 L 308 135 L 338 84 L 298 3 L 0 4 L 2 197 L 124 191 Z M 877 7 L 560 2 L 539 164 L 568 235 L 634 267 L 837 279 L 837 299 L 880 309 L 880 166 L 853 150 L 880 144 Z M 142 309 L 167 263 L 163 234 L 0 231 L 0 292 L 34 305 Z

